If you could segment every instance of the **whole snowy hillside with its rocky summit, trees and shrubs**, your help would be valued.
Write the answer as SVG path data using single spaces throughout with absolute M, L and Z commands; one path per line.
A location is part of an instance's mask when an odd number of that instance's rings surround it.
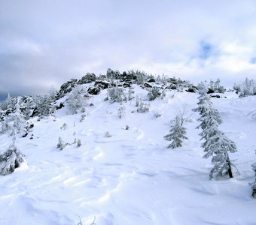
M 255 224 L 255 93 L 108 69 L 9 95 L 0 223 Z

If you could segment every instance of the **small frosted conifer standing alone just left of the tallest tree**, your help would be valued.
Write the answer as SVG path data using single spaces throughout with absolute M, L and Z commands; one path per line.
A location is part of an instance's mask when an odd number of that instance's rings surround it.
M 187 139 L 186 136 L 186 128 L 184 127 L 184 124 L 182 123 L 181 115 L 178 114 L 175 117 L 175 120 L 173 121 L 173 124 L 171 126 L 171 129 L 169 130 L 169 134 L 166 136 L 163 136 L 164 139 L 170 141 L 168 148 L 177 148 L 182 146 L 182 142 L 184 139 Z

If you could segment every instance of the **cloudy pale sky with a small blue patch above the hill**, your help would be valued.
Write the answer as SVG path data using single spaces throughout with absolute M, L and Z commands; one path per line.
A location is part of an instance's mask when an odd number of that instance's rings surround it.
M 232 85 L 256 78 L 256 1 L 1 0 L 1 96 L 108 68 Z

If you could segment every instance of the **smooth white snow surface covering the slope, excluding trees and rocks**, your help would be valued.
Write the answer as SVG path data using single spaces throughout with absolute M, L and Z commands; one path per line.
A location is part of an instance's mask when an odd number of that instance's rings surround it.
M 141 91 L 142 98 L 145 93 Z M 0 177 L 0 224 L 68 225 L 78 224 L 79 217 L 86 225 L 94 217 L 97 225 L 256 224 L 256 199 L 248 185 L 256 162 L 256 97 L 227 93 L 227 98 L 212 99 L 224 121 L 221 130 L 238 147 L 230 157 L 240 175 L 210 181 L 212 164 L 202 158 L 198 115 L 191 111 L 197 96 L 167 92 L 163 100 L 150 102 L 148 113 L 137 113 L 135 100 L 128 101 L 120 119 L 120 104 L 103 101 L 101 92 L 88 100 L 94 106 L 87 107 L 82 122 L 81 114 L 67 115 L 65 108 L 56 118 L 35 121 L 34 139 L 29 139 L 31 133 L 17 139 L 29 166 Z M 163 136 L 179 110 L 190 116 L 189 139 L 183 147 L 169 149 Z M 60 129 L 63 123 L 66 130 Z M 104 136 L 106 131 L 111 137 Z M 69 143 L 79 138 L 82 145 L 59 151 L 59 136 Z M 11 138 L 1 136 L 2 150 L 10 143 Z

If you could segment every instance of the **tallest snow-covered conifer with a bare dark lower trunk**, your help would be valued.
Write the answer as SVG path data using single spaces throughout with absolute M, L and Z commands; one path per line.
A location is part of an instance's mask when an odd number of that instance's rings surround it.
M 194 111 L 200 113 L 200 125 L 197 127 L 202 128 L 200 136 L 204 140 L 202 147 L 206 152 L 203 157 L 208 158 L 212 156 L 212 163 L 214 164 L 210 178 L 213 175 L 224 176 L 229 175 L 233 178 L 232 168 L 235 167 L 230 160 L 229 153 L 236 151 L 236 144 L 227 138 L 221 130 L 218 130 L 218 125 L 222 123 L 221 115 L 218 110 L 212 107 L 212 102 L 207 96 L 206 84 L 200 83 L 199 85 L 200 97 L 197 103 L 198 107 Z

